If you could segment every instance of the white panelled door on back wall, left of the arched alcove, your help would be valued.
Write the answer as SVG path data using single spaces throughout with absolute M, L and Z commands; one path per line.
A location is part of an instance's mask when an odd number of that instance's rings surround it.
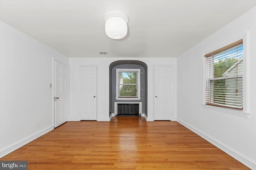
M 97 72 L 96 66 L 80 66 L 80 119 L 97 120 L 96 90 Z

